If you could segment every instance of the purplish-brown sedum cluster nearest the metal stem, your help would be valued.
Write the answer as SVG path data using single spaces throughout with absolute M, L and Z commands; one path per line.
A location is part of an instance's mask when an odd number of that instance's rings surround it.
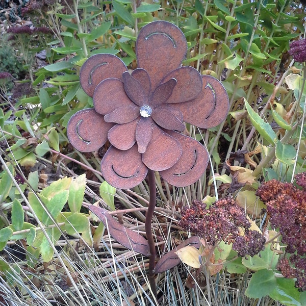
M 219 241 L 233 243 L 238 256 L 254 256 L 265 247 L 265 238 L 257 231 L 249 230 L 251 224 L 245 211 L 232 197 L 217 200 L 209 208 L 201 201 L 193 201 L 190 208 L 182 210 L 180 225 L 186 231 L 206 240 L 214 246 Z M 239 227 L 245 231 L 240 235 Z

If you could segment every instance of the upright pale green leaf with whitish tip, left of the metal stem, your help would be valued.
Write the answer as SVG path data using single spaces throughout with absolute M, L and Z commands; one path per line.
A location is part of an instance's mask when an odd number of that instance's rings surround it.
M 71 181 L 69 187 L 68 206 L 72 213 L 79 213 L 84 199 L 86 175 L 82 174 Z

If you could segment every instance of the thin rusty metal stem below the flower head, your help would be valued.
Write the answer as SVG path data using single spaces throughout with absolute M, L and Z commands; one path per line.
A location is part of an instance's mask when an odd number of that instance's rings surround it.
M 148 171 L 148 179 L 149 179 L 149 192 L 150 192 L 150 200 L 148 210 L 145 215 L 145 233 L 150 247 L 150 257 L 149 257 L 149 283 L 151 287 L 152 294 L 155 298 L 155 303 L 157 303 L 157 290 L 156 290 L 156 283 L 154 277 L 154 267 L 155 267 L 155 243 L 152 234 L 152 218 L 154 214 L 154 209 L 156 206 L 156 184 L 155 184 L 155 173 L 154 171 Z

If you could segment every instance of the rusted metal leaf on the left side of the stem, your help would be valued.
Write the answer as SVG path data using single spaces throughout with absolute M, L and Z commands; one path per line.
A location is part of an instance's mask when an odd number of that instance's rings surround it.
M 150 255 L 149 245 L 144 237 L 117 222 L 104 208 L 94 205 L 90 205 L 88 208 L 104 223 L 108 232 L 116 241 L 144 256 Z

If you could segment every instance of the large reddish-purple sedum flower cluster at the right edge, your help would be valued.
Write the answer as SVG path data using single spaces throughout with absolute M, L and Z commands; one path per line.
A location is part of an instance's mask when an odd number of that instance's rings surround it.
M 306 172 L 295 176 L 296 184 L 276 180 L 263 183 L 257 195 L 267 205 L 271 225 L 282 234 L 286 251 L 277 264 L 285 277 L 295 277 L 296 287 L 306 290 Z

